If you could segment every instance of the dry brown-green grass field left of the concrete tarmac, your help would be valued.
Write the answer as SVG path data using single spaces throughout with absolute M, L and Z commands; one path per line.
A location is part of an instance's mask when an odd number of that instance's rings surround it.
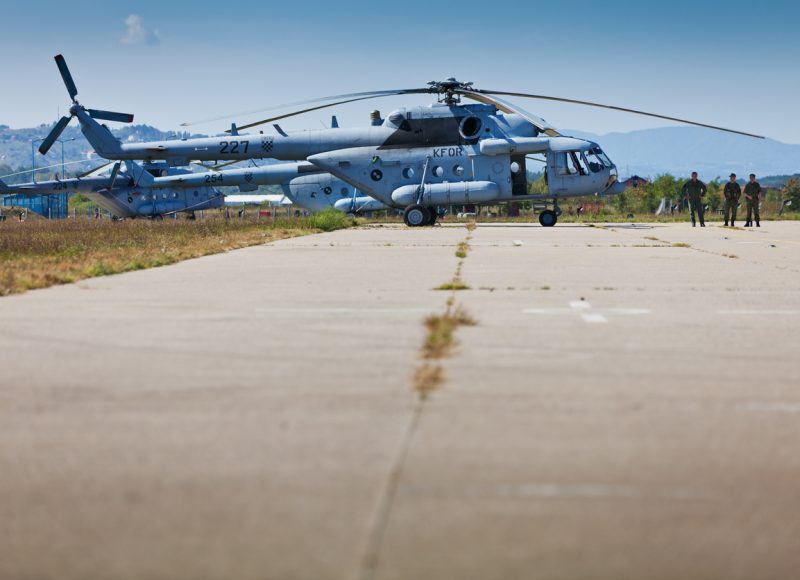
M 0 222 L 0 296 L 350 225 L 353 222 L 335 210 L 275 220 L 9 219 Z

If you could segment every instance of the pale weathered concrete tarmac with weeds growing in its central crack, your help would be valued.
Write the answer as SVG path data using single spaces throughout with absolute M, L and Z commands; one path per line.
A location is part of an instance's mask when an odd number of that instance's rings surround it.
M 800 222 L 468 235 L 0 298 L 0 579 L 794 577 Z

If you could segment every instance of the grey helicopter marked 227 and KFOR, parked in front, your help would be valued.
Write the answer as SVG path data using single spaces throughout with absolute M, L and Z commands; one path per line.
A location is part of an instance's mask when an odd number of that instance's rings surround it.
M 314 105 L 237 127 L 228 135 L 120 143 L 95 119 L 125 121 L 131 115 L 86 109 L 76 100 L 77 89 L 64 57 L 55 57 L 72 98 L 70 117 L 62 117 L 42 143 L 46 153 L 61 131 L 76 117 L 81 130 L 107 159 L 163 160 L 182 166 L 191 160 L 273 158 L 308 160 L 321 170 L 357 187 L 378 202 L 404 210 L 409 226 L 431 225 L 435 205 L 496 204 L 535 201 L 553 209 L 539 214 L 543 226 L 556 224 L 559 201 L 585 195 L 616 195 L 624 191 L 616 166 L 594 142 L 561 135 L 544 119 L 506 101 L 505 96 L 601 107 L 754 138 L 762 136 L 635 109 L 561 97 L 478 89 L 473 83 L 448 78 L 427 87 L 369 91 L 312 99 L 294 105 Z M 275 134 L 242 134 L 241 130 L 344 103 L 391 95 L 434 94 L 428 106 L 393 111 L 385 119 L 374 111 L 368 127 L 331 127 L 287 133 L 273 124 Z M 476 101 L 462 104 L 461 99 Z M 333 101 L 333 102 L 327 102 Z M 317 103 L 325 102 L 318 105 Z M 129 121 L 125 121 L 129 122 Z M 547 193 L 527 192 L 527 161 L 544 165 Z

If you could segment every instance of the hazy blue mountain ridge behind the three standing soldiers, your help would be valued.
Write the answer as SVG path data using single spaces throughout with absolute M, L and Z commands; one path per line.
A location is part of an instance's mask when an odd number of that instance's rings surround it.
M 800 145 L 788 145 L 771 139 L 752 139 L 700 127 L 664 127 L 631 133 L 592 135 L 564 131 L 575 137 L 597 141 L 627 177 L 652 177 L 662 173 L 700 178 L 739 177 L 748 173 L 759 176 L 800 172 Z

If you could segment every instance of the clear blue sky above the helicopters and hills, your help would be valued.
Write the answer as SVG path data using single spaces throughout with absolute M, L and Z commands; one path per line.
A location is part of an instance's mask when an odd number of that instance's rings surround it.
M 53 120 L 67 107 L 52 60 L 63 53 L 85 105 L 132 112 L 162 129 L 454 75 L 483 88 L 595 100 L 800 143 L 800 8 L 785 1 L 10 0 L 2 13 L 0 123 L 12 127 Z M 371 108 L 427 101 L 392 97 L 335 112 L 352 126 Z M 517 102 L 557 127 L 599 134 L 665 125 Z M 329 119 L 312 113 L 283 125 Z

